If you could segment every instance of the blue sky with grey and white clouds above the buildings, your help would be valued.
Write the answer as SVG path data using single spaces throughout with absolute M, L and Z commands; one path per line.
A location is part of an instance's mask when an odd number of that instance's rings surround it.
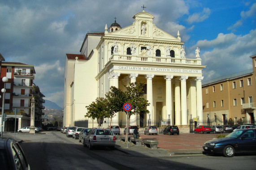
M 187 58 L 200 48 L 203 81 L 252 68 L 255 0 L 2 0 L 0 53 L 34 65 L 44 99 L 63 107 L 65 54 L 80 54 L 86 33 L 104 32 L 114 17 L 130 26 L 143 4 L 158 28 L 175 37 L 179 30 Z

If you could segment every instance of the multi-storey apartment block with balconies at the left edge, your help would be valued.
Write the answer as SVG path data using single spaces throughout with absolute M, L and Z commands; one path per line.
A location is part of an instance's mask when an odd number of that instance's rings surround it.
M 42 109 L 44 106 L 44 95 L 40 92 L 37 85 L 34 84 L 35 68 L 33 65 L 18 62 L 2 62 L 0 79 L 6 76 L 8 81 L 5 83 L 4 113 L 6 121 L 4 122 L 4 131 L 13 132 L 25 126 L 30 126 L 31 101 L 35 99 L 35 126 L 42 126 Z M 4 88 L 4 82 L 0 81 L 0 88 Z M 1 96 L 3 96 L 1 94 Z M 3 97 L 0 98 L 2 109 Z M 14 110 L 17 109 L 17 115 Z

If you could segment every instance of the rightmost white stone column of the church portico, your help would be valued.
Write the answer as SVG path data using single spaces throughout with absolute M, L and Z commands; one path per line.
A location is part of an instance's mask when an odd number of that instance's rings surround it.
M 203 76 L 196 77 L 196 114 L 203 120 L 203 99 L 202 99 L 202 80 Z

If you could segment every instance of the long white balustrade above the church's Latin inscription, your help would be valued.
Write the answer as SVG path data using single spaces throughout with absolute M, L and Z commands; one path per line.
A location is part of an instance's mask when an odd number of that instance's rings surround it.
M 151 56 L 143 56 L 143 55 L 115 55 L 115 54 L 113 54 L 110 57 L 110 60 L 201 65 L 201 59 L 151 57 Z

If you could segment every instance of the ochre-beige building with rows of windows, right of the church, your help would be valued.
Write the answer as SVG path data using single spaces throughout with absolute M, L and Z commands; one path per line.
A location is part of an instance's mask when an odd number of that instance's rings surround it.
M 204 119 L 230 118 L 234 123 L 255 123 L 256 55 L 252 69 L 202 83 Z

